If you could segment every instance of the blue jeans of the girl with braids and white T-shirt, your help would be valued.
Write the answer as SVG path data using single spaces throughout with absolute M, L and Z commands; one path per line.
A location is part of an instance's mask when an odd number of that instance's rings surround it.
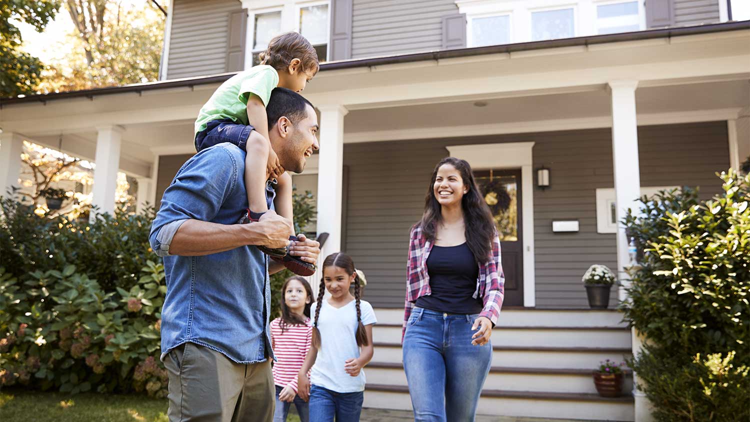
M 310 387 L 310 422 L 359 422 L 365 392 L 337 393 L 318 385 Z

